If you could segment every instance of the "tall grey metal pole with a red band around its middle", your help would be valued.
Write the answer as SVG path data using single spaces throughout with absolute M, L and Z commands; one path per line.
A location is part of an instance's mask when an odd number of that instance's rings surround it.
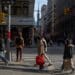
M 8 7 L 8 41 L 7 41 L 7 54 L 6 54 L 6 58 L 9 62 L 11 62 L 12 60 L 12 55 L 11 55 L 11 49 L 10 49 L 10 39 L 11 39 L 11 4 L 9 4 Z

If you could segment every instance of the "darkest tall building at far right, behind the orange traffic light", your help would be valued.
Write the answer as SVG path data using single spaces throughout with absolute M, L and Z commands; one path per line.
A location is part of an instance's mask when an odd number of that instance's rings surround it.
M 74 0 L 56 0 L 56 30 L 59 32 L 60 37 L 64 39 L 74 37 Z M 59 8 L 60 7 L 60 8 Z

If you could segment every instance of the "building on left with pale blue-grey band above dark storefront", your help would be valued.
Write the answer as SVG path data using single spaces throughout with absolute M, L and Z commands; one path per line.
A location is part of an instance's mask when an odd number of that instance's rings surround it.
M 7 32 L 8 29 L 8 5 L 11 5 L 11 39 L 13 40 L 18 31 L 23 33 L 26 45 L 31 43 L 34 29 L 34 3 L 35 0 L 2 0 L 0 2 L 1 11 L 6 13 L 5 23 L 0 23 L 1 32 Z M 3 34 L 5 34 L 3 33 Z

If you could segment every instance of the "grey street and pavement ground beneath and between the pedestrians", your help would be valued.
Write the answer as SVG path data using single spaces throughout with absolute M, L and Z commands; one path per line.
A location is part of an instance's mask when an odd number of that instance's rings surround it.
M 48 47 L 48 56 L 53 65 L 47 66 L 48 62 L 46 61 L 43 70 L 39 70 L 38 66 L 34 66 L 37 48 L 24 48 L 22 62 L 16 62 L 16 49 L 14 47 L 11 48 L 11 51 L 12 62 L 10 62 L 8 66 L 0 62 L 0 75 L 75 75 L 75 72 L 61 71 L 64 46 Z M 73 53 L 75 53 L 74 50 Z M 74 58 L 75 54 L 73 61 L 75 61 Z

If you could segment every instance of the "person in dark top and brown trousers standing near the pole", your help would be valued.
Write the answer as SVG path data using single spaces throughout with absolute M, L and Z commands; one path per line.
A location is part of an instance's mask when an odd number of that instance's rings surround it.
M 22 37 L 22 33 L 18 32 L 18 37 L 16 38 L 16 61 L 22 61 L 22 53 L 24 48 L 24 39 Z

